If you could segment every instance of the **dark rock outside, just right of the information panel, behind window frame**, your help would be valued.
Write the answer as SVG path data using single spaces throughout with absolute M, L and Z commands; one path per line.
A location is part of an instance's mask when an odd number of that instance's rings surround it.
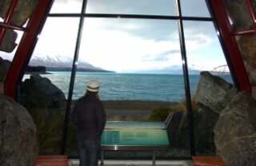
M 199 109 L 193 112 L 193 116 L 196 152 L 215 155 L 214 126 L 218 114 L 210 109 Z M 171 112 L 167 119 L 166 130 L 170 138 L 170 146 L 190 150 L 190 124 L 186 111 Z

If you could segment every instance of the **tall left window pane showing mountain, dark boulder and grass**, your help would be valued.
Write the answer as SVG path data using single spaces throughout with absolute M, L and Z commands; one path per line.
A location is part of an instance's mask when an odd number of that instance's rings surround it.
M 39 154 L 58 154 L 78 18 L 47 18 L 21 85 L 21 104 L 38 129 Z

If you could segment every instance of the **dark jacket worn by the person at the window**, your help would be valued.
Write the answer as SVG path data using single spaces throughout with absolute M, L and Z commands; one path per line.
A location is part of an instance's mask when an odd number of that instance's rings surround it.
M 78 126 L 78 139 L 99 140 L 106 124 L 106 113 L 93 93 L 86 93 L 74 105 L 73 121 Z

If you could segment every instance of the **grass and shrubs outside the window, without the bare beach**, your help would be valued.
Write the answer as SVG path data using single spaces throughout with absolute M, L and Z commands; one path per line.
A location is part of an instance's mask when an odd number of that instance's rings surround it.
M 196 104 L 194 97 L 191 98 L 191 105 L 193 110 L 198 110 L 199 106 Z M 166 121 L 169 113 L 177 111 L 186 111 L 186 100 L 182 100 L 176 105 L 159 106 L 153 109 L 147 117 L 141 117 L 140 121 Z M 63 122 L 64 110 L 59 109 L 30 109 L 31 117 L 37 126 L 38 143 L 40 154 L 59 154 Z M 132 116 L 112 115 L 107 117 L 107 121 L 138 121 L 134 120 Z M 66 152 L 73 154 L 76 151 L 76 126 L 72 122 L 68 125 Z

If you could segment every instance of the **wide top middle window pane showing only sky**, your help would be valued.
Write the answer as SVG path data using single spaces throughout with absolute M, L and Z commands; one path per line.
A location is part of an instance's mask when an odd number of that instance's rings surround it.
M 174 0 L 88 0 L 86 13 L 177 15 Z

